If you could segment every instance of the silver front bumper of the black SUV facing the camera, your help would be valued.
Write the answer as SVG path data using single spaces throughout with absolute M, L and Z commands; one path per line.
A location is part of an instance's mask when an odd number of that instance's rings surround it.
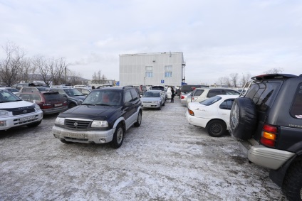
M 53 126 L 53 136 L 71 142 L 108 143 L 113 140 L 115 129 L 108 131 L 77 131 Z

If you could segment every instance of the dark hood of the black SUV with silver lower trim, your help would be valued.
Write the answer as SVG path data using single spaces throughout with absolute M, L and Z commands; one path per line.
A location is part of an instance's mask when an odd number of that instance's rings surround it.
M 117 110 L 121 110 L 120 106 L 79 105 L 59 114 L 58 117 L 104 120 Z

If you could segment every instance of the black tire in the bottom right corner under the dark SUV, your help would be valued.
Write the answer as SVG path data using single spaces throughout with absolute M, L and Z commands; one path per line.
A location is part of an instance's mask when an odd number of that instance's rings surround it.
M 282 191 L 288 200 L 302 200 L 302 161 L 297 161 L 288 168 Z

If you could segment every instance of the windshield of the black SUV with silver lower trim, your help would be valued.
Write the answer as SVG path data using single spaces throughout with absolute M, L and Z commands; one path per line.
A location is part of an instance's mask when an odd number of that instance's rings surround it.
M 93 90 L 82 105 L 120 106 L 123 103 L 122 92 L 118 90 Z

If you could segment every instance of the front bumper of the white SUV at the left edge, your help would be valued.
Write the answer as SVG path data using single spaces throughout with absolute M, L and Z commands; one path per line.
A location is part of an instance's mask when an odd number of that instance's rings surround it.
M 43 119 L 43 112 L 41 110 L 29 114 L 1 117 L 0 130 L 7 130 L 17 126 L 26 126 Z

